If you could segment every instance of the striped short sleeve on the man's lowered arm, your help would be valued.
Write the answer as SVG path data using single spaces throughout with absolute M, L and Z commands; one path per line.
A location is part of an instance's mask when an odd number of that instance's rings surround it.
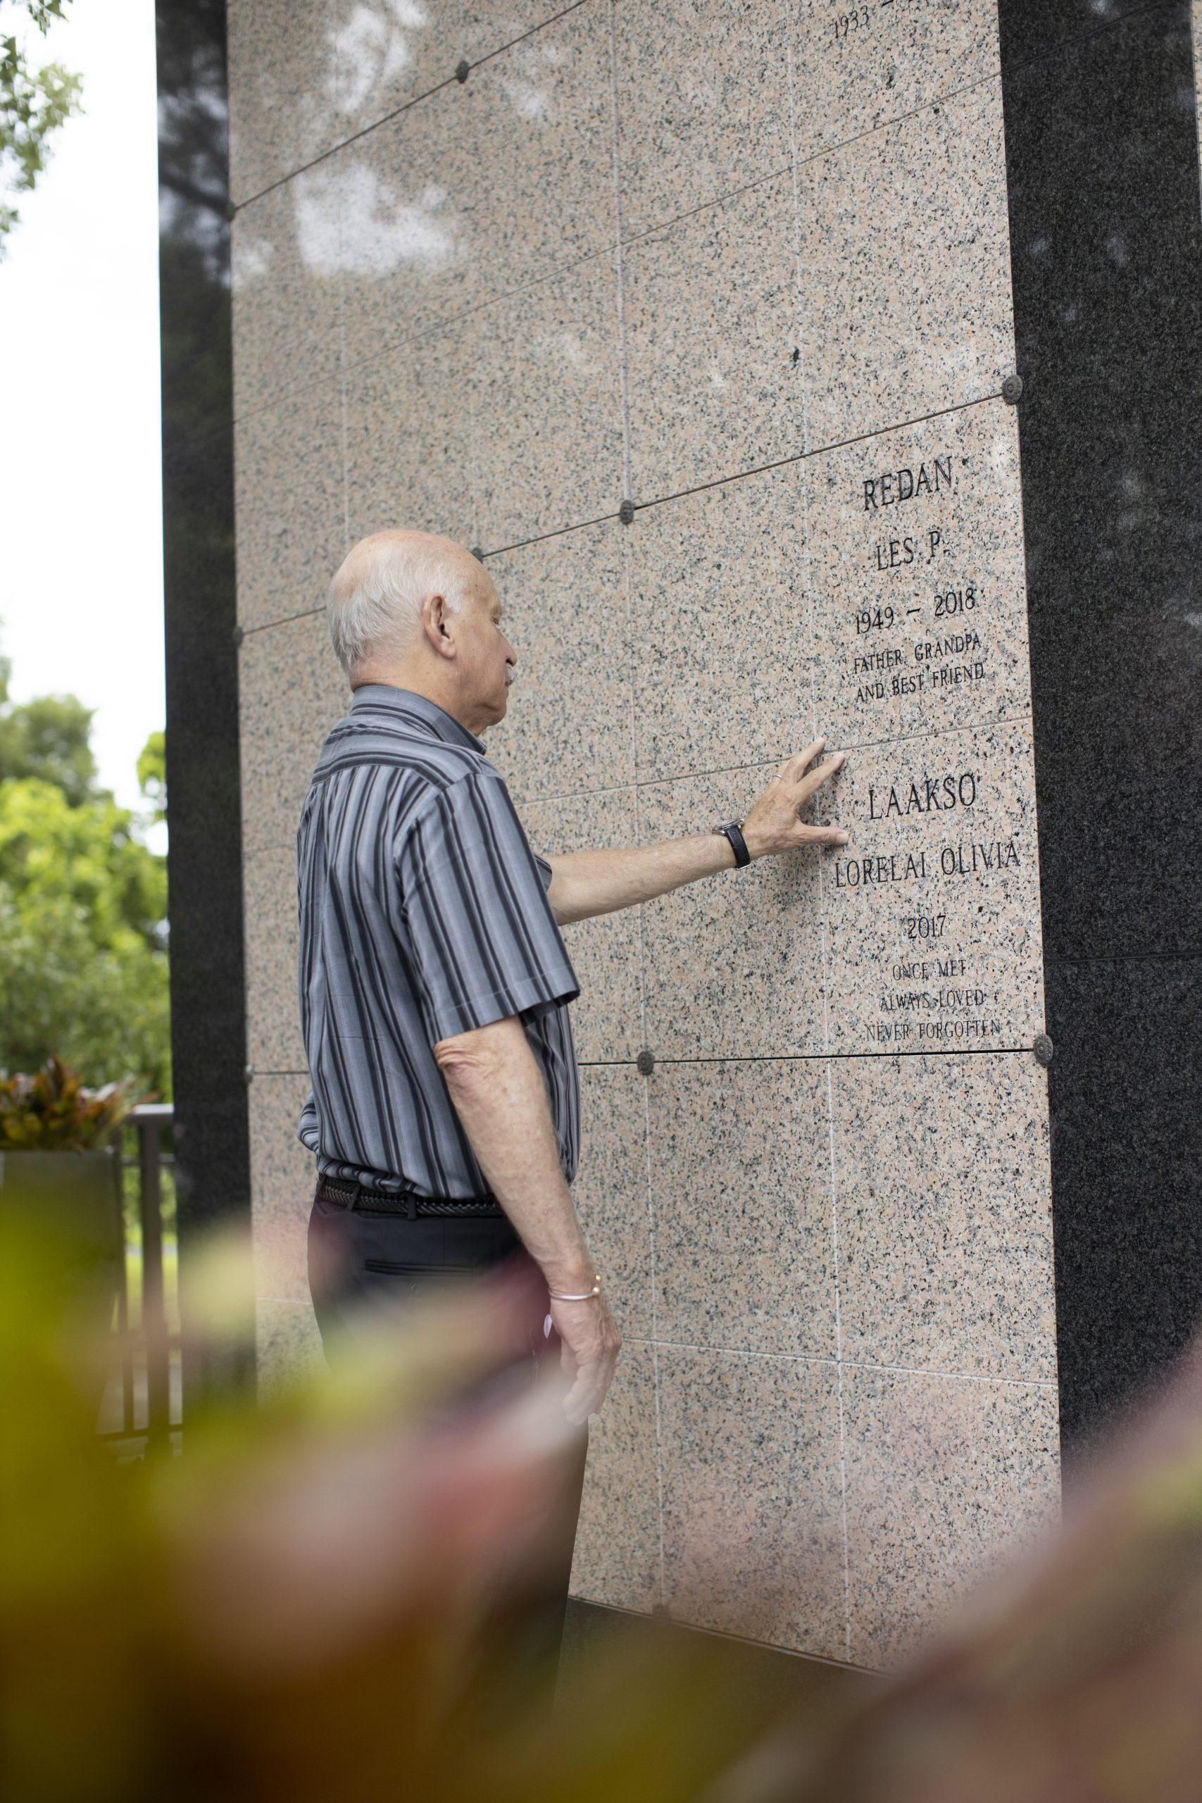
M 580 993 L 539 860 L 496 772 L 434 792 L 402 828 L 396 871 L 433 1046 Z

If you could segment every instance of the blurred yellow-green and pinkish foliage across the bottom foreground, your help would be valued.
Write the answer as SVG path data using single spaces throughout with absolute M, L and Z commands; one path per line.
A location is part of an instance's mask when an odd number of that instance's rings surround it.
M 5 1803 L 1186 1803 L 1202 1794 L 1202 1370 L 1074 1520 L 892 1684 L 780 1713 L 750 1655 L 652 1626 L 532 1682 L 573 1435 L 515 1379 L 512 1282 L 364 1323 L 339 1368 L 117 1462 L 61 1248 L 0 1219 Z M 214 1246 L 191 1352 L 245 1347 Z M 236 1363 L 236 1359 L 232 1359 Z M 798 1688 L 798 1698 L 802 1689 Z

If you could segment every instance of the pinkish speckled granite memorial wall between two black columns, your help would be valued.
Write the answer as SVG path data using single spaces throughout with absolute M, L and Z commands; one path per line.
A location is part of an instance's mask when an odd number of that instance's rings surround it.
M 317 1356 L 296 817 L 346 546 L 478 546 L 537 849 L 852 833 L 571 929 L 627 1350 L 580 1596 L 887 1664 L 1058 1504 L 995 0 L 231 0 L 261 1365 Z M 1007 393 L 1013 393 L 1007 389 Z M 636 1062 L 640 1053 L 645 1075 Z

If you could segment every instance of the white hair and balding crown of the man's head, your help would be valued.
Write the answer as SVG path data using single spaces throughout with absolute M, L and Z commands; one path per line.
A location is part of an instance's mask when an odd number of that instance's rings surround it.
M 404 656 L 422 629 L 422 606 L 442 595 L 452 613 L 472 582 L 470 554 L 433 532 L 373 532 L 348 552 L 330 584 L 330 642 L 353 682 L 368 658 Z

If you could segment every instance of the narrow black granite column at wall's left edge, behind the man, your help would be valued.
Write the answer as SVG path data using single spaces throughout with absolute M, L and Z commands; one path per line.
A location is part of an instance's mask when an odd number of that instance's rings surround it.
M 171 1055 L 180 1233 L 249 1219 L 223 0 L 159 0 Z

